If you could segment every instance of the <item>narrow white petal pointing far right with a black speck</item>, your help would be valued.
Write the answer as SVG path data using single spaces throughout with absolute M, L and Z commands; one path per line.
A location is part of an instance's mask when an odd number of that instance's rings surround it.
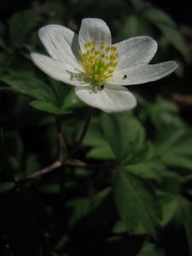
M 108 80 L 108 83 L 119 85 L 144 84 L 162 79 L 172 73 L 176 68 L 177 63 L 175 61 L 125 68 L 116 71 L 113 78 Z

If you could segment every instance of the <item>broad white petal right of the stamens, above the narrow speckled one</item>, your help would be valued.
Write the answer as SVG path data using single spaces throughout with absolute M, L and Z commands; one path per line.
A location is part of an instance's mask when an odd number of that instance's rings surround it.
M 114 45 L 119 54 L 117 69 L 148 63 L 157 51 L 157 43 L 149 37 L 129 38 Z

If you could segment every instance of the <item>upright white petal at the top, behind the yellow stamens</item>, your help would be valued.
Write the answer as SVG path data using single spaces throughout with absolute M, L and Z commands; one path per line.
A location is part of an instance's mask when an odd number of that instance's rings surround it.
M 96 41 L 97 46 L 102 41 L 107 45 L 111 44 L 111 32 L 103 20 L 90 18 L 82 20 L 79 30 L 80 48 L 84 51 L 84 43 L 89 43 L 92 40 Z

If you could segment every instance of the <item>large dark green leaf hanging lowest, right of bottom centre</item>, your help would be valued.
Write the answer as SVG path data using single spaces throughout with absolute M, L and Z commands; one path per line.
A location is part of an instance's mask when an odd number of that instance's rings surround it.
M 141 177 L 118 170 L 113 186 L 114 198 L 126 230 L 132 233 L 142 222 L 148 235 L 156 237 L 160 205 L 154 189 Z

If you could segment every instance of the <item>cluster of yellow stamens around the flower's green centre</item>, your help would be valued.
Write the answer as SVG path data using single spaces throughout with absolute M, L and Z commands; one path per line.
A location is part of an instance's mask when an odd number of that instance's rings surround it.
M 85 51 L 79 50 L 82 60 L 79 64 L 84 68 L 86 79 L 90 79 L 92 84 L 100 86 L 113 77 L 115 67 L 117 67 L 117 47 L 106 46 L 105 42 L 96 47 L 96 41 L 84 44 Z M 102 85 L 103 86 L 103 85 Z

